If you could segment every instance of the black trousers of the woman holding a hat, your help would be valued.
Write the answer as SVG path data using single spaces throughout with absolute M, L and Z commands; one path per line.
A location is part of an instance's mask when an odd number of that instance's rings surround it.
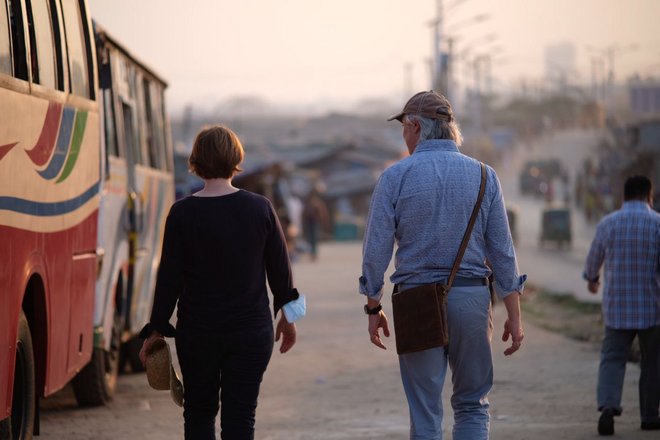
M 186 440 L 215 440 L 220 406 L 222 439 L 254 439 L 259 386 L 273 344 L 272 326 L 221 336 L 177 328 Z

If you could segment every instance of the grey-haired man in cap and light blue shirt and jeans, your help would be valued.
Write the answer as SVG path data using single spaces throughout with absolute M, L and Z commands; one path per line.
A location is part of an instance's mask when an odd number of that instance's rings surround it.
M 392 116 L 403 125 L 410 156 L 386 169 L 372 196 L 363 246 L 360 293 L 367 296 L 371 342 L 385 349 L 380 329 L 389 325 L 380 304 L 383 277 L 394 244 L 391 280 L 400 295 L 416 286 L 447 279 L 475 206 L 481 167 L 461 154 L 462 136 L 447 99 L 433 91 L 414 95 Z M 486 188 L 467 249 L 448 295 L 449 345 L 399 356 L 410 410 L 410 438 L 442 439 L 442 387 L 452 370 L 453 438 L 487 439 L 488 393 L 493 383 L 492 321 L 487 277 L 504 299 L 508 319 L 502 339 L 512 339 L 505 354 L 523 340 L 519 276 L 499 180 L 487 167 Z

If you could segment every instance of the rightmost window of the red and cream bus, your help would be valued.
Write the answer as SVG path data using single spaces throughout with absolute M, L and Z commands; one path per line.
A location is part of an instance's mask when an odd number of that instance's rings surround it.
M 62 2 L 64 29 L 69 50 L 69 76 L 71 77 L 71 93 L 85 98 L 89 94 L 89 68 L 87 51 L 85 50 L 85 35 L 83 33 L 80 4 L 75 1 Z

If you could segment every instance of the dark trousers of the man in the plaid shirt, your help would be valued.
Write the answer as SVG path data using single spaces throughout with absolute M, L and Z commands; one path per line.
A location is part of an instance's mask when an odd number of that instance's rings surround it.
M 598 409 L 621 414 L 621 393 L 630 346 L 635 336 L 641 352 L 639 411 L 642 422 L 657 420 L 660 405 L 660 326 L 643 330 L 605 328 L 598 370 Z

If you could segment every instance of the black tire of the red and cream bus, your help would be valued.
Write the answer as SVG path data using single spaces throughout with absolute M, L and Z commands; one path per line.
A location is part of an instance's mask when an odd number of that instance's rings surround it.
M 16 361 L 14 368 L 14 393 L 11 415 L 2 422 L 2 438 L 29 440 L 32 438 L 36 404 L 36 385 L 34 378 L 34 352 L 32 335 L 25 314 L 21 311 L 18 318 L 16 335 Z

